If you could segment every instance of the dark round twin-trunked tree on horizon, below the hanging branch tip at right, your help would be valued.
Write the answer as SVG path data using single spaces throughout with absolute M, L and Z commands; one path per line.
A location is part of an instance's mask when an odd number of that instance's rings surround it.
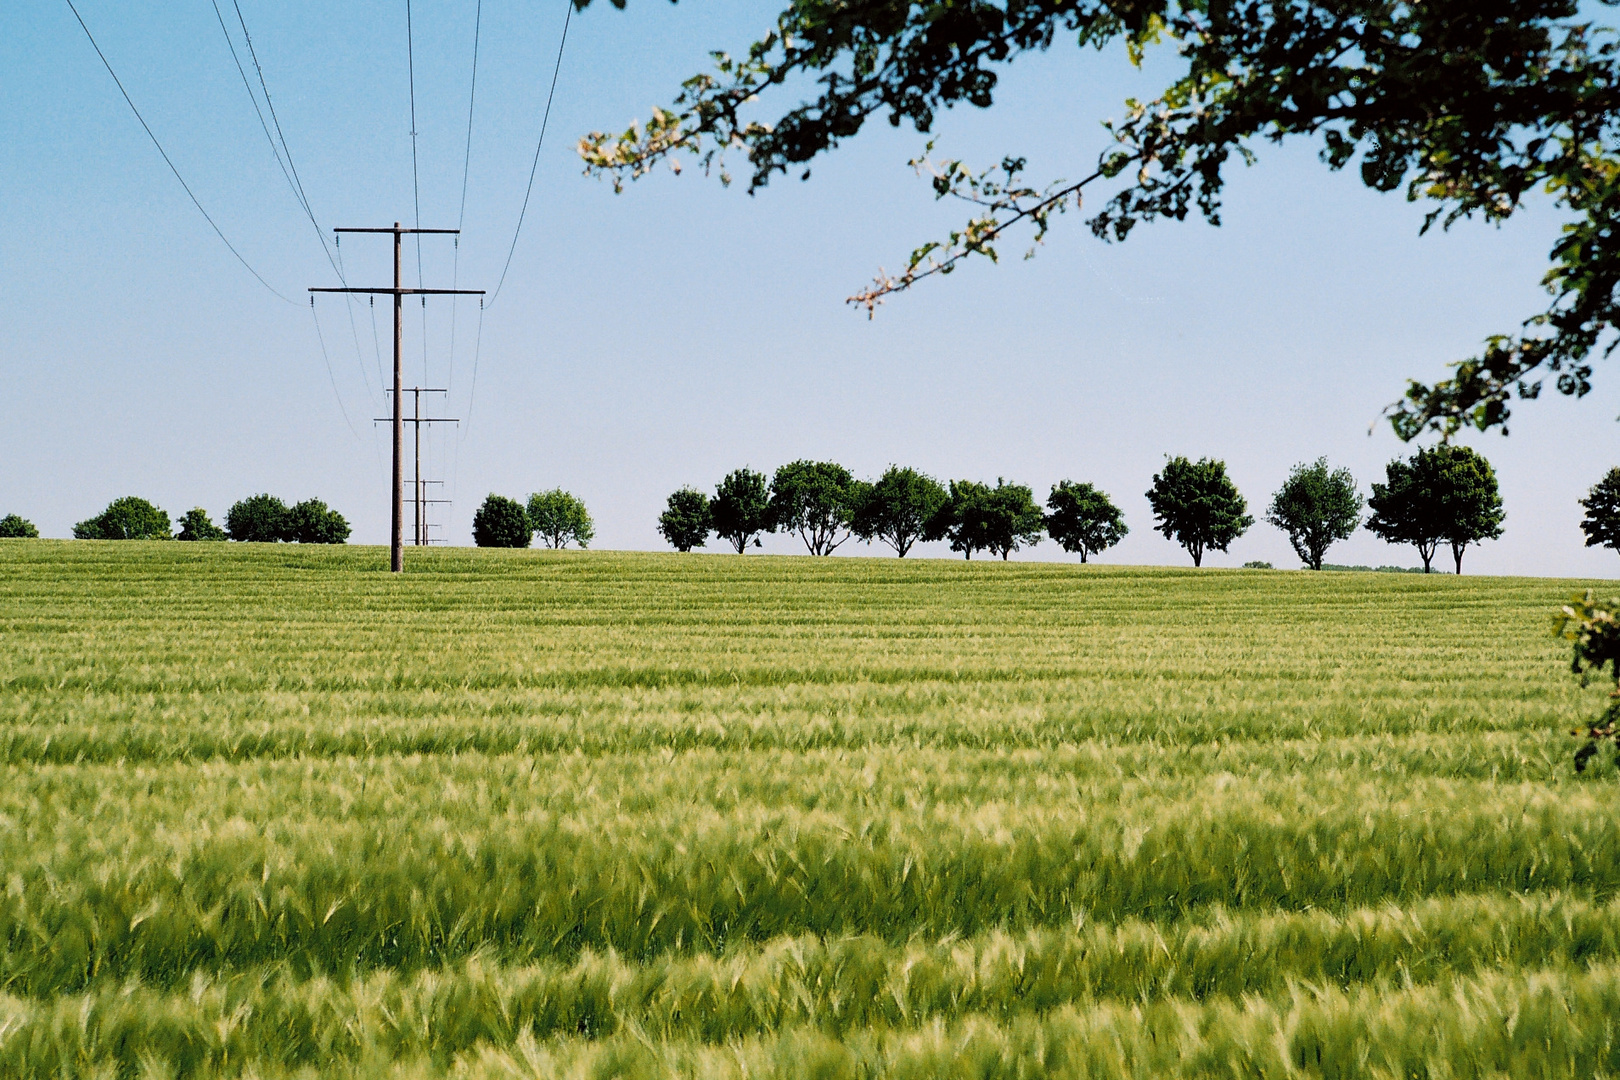
M 1411 461 L 1390 461 L 1383 473 L 1385 483 L 1374 484 L 1367 499 L 1367 529 L 1390 544 L 1414 544 L 1424 573 L 1442 542 L 1452 546 L 1461 573 L 1464 547 L 1502 536 L 1497 474 L 1468 447 L 1440 444 Z

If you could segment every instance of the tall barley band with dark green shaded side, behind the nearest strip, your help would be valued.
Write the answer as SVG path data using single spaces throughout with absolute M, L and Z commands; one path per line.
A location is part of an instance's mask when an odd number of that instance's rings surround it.
M 460 821 L 428 806 L 400 819 L 185 827 L 138 813 L 122 827 L 26 814 L 0 850 L 0 986 L 49 994 L 269 962 L 316 973 L 439 967 L 481 950 L 509 962 L 585 949 L 646 959 L 782 934 L 906 941 L 1215 905 L 1620 892 L 1620 819 L 1602 792 L 1328 787 L 1212 777 L 1194 798 L 842 814 L 489 814 L 488 797 Z

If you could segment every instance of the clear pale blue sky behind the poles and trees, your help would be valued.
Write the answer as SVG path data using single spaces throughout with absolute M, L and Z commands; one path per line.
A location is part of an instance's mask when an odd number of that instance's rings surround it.
M 271 491 L 322 497 L 355 541 L 384 542 L 387 432 L 371 418 L 386 411 L 386 308 L 377 350 L 369 308 L 321 300 L 322 359 L 305 290 L 335 275 L 211 3 L 76 3 L 202 206 L 293 303 L 212 235 L 66 5 L 6 5 L 0 513 L 66 536 L 123 494 L 219 520 Z M 457 222 L 475 6 L 411 5 L 426 227 Z M 403 0 L 241 11 L 321 227 L 411 222 Z M 930 282 L 867 321 L 844 296 L 962 220 L 906 165 L 925 136 L 878 123 L 808 183 L 752 198 L 695 170 L 614 196 L 573 152 L 586 131 L 645 118 L 708 50 L 740 50 L 773 15 L 632 0 L 573 16 L 528 219 L 481 338 L 476 303 L 454 313 L 454 351 L 447 301 L 429 301 L 426 338 L 408 309 L 407 377 L 449 385 L 434 410 L 465 418 L 428 442 L 429 474 L 454 499 L 437 518 L 450 542 L 470 542 L 486 492 L 562 486 L 590 505 L 596 546 L 661 549 L 654 523 L 676 487 L 813 457 L 868 476 L 891 461 L 1004 476 L 1037 494 L 1090 481 L 1132 529 L 1106 562 L 1183 563 L 1142 497 L 1166 453 L 1225 458 L 1257 518 L 1288 468 L 1319 455 L 1366 489 L 1409 452 L 1379 423 L 1403 379 L 1439 376 L 1545 301 L 1549 206 L 1505 228 L 1419 236 L 1422 207 L 1293 144 L 1260 146 L 1259 167 L 1231 173 L 1220 228 L 1160 223 L 1110 246 L 1071 217 L 1035 259 L 1008 244 L 1000 267 Z M 562 18 L 564 0 L 483 5 L 465 235 L 458 249 L 423 243 L 429 285 L 492 290 L 501 275 Z M 993 110 L 944 117 L 940 151 L 1082 175 L 1105 146 L 1100 121 L 1166 71 L 1059 42 L 1004 73 Z M 343 257 L 353 282 L 384 283 L 386 240 L 347 240 Z M 415 249 L 407 262 L 415 274 Z M 1620 557 L 1584 549 L 1578 529 L 1575 500 L 1620 463 L 1612 364 L 1597 385 L 1520 406 L 1507 439 L 1464 439 L 1497 465 L 1508 512 L 1505 536 L 1464 570 L 1620 576 Z M 1024 557 L 1064 555 L 1048 542 Z M 1298 565 L 1264 521 L 1207 565 L 1251 559 Z M 1414 565 L 1416 552 L 1361 533 L 1330 560 Z

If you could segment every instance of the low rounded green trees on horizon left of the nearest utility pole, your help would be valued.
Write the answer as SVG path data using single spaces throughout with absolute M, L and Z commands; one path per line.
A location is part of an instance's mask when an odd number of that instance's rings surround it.
M 5 518 L 6 523 L 16 518 Z M 28 536 L 39 536 L 32 523 L 16 518 Z M 193 507 L 172 529 L 168 513 L 146 499 L 125 495 L 113 499 L 94 518 L 73 526 L 75 539 L 178 539 L 178 541 L 248 541 L 261 544 L 343 544 L 348 521 L 319 499 L 306 499 L 288 507 L 275 495 L 249 495 L 225 513 L 225 528 L 209 518 L 207 510 Z

